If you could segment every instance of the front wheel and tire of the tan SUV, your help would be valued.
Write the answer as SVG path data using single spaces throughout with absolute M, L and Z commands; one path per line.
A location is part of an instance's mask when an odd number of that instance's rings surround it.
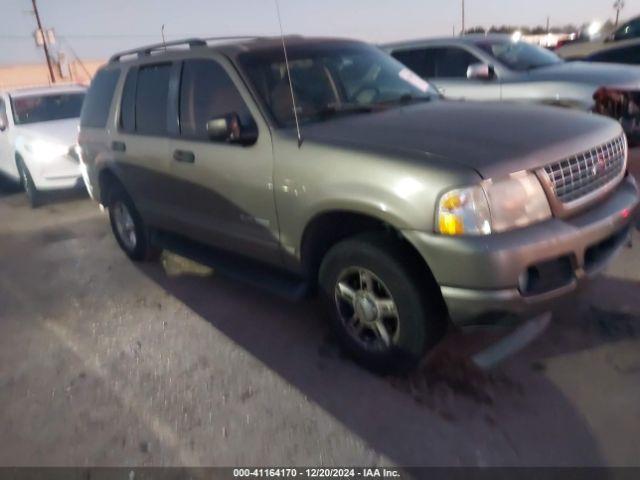
M 406 248 L 390 235 L 359 236 L 331 248 L 320 266 L 341 346 L 378 373 L 415 368 L 447 327 L 437 285 Z

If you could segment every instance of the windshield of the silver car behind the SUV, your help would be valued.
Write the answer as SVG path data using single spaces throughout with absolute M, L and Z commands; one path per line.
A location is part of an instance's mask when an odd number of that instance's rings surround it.
M 478 42 L 478 47 L 511 70 L 523 72 L 562 63 L 555 53 L 526 42 L 501 40 Z

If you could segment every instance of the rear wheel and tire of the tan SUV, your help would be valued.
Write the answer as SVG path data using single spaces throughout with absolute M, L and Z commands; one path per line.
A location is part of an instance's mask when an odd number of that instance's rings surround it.
M 108 206 L 111 230 L 124 253 L 137 262 L 157 260 L 161 250 L 151 244 L 149 230 L 123 187 L 111 187 Z

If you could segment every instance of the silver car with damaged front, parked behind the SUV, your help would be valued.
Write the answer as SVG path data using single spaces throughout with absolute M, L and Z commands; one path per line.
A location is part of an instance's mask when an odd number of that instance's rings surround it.
M 640 140 L 640 68 L 565 62 L 508 35 L 470 35 L 384 46 L 452 99 L 507 100 L 598 112 Z

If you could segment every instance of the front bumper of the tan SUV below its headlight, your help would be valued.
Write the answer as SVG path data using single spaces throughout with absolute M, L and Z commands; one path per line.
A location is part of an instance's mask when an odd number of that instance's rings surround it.
M 431 268 L 454 323 L 496 323 L 547 311 L 601 272 L 627 242 L 638 204 L 627 176 L 572 218 L 479 237 L 403 233 Z

